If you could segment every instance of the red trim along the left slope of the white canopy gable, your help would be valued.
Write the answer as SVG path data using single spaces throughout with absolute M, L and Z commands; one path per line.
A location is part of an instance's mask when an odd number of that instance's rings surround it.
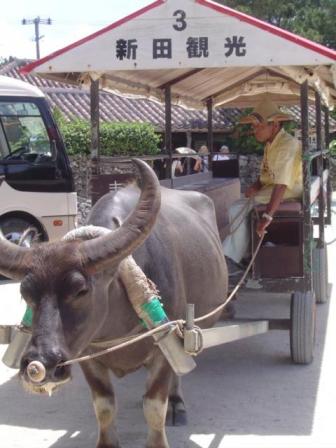
M 112 23 L 111 25 L 108 25 L 105 28 L 102 28 L 99 31 L 96 31 L 93 34 L 90 34 L 89 36 L 84 37 L 83 39 L 78 40 L 77 42 L 74 42 L 73 44 L 70 44 L 64 48 L 61 48 L 60 50 L 55 51 L 54 53 L 49 54 L 48 56 L 45 56 L 42 59 L 39 59 L 38 61 L 31 62 L 30 64 L 25 65 L 20 69 L 20 73 L 23 75 L 27 75 L 30 73 L 34 68 L 38 67 L 39 65 L 44 64 L 45 62 L 49 61 L 50 59 L 55 58 L 56 56 L 59 56 L 63 53 L 66 53 L 69 50 L 72 50 L 73 48 L 78 47 L 79 45 L 85 44 L 86 42 L 89 42 L 90 40 L 95 39 L 96 37 L 107 33 L 108 31 L 113 30 L 114 28 L 117 28 L 120 25 L 123 25 L 124 23 L 135 19 L 138 16 L 141 16 L 142 14 L 150 11 L 153 8 L 156 8 L 157 6 L 162 5 L 165 3 L 165 0 L 156 0 L 153 3 L 150 3 L 147 6 L 144 6 L 143 8 L 139 9 L 138 11 L 133 12 L 132 14 L 129 14 L 128 16 L 118 20 L 117 22 Z

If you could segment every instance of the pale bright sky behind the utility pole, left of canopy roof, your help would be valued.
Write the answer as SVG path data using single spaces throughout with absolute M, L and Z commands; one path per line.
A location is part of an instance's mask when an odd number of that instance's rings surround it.
M 0 0 L 6 6 L 0 15 L 0 60 L 14 56 L 36 58 L 34 25 L 22 19 L 52 20 L 40 25 L 41 57 L 65 47 L 122 17 L 152 3 L 152 0 Z

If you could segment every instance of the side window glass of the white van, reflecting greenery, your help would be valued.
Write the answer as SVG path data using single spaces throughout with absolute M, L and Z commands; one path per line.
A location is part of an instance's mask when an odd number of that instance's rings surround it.
M 0 126 L 2 158 L 34 163 L 50 160 L 50 139 L 36 104 L 0 102 Z

